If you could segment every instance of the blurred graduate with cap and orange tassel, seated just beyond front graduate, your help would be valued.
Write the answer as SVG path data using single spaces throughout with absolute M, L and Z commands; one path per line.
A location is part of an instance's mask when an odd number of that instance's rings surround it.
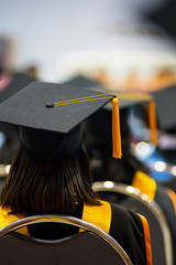
M 85 89 L 111 92 L 96 82 L 89 82 L 85 76 L 76 76 L 67 85 L 78 85 Z M 116 92 L 113 92 L 116 93 Z M 87 148 L 92 170 L 92 181 L 114 181 L 138 188 L 142 193 L 154 200 L 167 219 L 173 247 L 176 247 L 176 194 L 169 187 L 162 187 L 150 177 L 150 168 L 140 161 L 132 152 L 132 134 L 129 126 L 130 109 L 134 106 L 144 108 L 147 113 L 151 141 L 157 144 L 157 128 L 155 120 L 155 103 L 148 94 L 117 93 L 120 108 L 120 132 L 122 157 L 112 158 L 112 108 L 110 105 L 96 112 L 84 123 L 84 142 Z M 174 100 L 174 99 L 173 99 Z M 147 109 L 147 110 L 146 110 Z M 157 109 L 157 108 L 156 108 Z

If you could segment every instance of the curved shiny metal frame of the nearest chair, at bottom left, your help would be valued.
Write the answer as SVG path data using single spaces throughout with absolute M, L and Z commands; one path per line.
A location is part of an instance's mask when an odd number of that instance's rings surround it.
M 88 232 L 91 232 L 92 234 L 96 234 L 98 237 L 107 242 L 123 259 L 125 265 L 133 265 L 130 257 L 125 253 L 125 251 L 121 247 L 121 245 L 109 234 L 107 234 L 101 229 L 97 227 L 96 225 L 86 222 L 81 219 L 67 216 L 67 215 L 32 215 L 28 218 L 20 219 L 18 221 L 14 221 L 7 226 L 2 227 L 0 230 L 0 239 L 15 230 L 19 230 L 21 227 L 24 227 L 30 224 L 36 224 L 36 223 L 44 223 L 44 222 L 51 222 L 51 223 L 64 223 L 69 225 L 75 225 L 79 229 L 86 230 Z M 47 241 L 48 243 L 48 241 Z M 51 242 L 52 243 L 52 242 Z

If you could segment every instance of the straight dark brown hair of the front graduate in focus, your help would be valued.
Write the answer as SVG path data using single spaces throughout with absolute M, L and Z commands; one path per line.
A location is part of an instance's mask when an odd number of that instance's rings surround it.
M 20 147 L 1 193 L 1 205 L 13 214 L 73 214 L 82 203 L 99 205 L 91 189 L 89 159 L 84 147 L 72 158 L 41 162 Z

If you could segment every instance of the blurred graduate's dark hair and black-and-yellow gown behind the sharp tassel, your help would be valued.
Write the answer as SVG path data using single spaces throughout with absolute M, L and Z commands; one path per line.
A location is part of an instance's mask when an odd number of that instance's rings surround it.
M 132 103 L 130 102 L 129 105 Z M 120 105 L 120 104 L 119 104 Z M 172 231 L 176 247 L 176 194 L 168 188 L 163 188 L 150 177 L 150 169 L 140 161 L 131 150 L 131 131 L 128 124 L 130 106 L 120 106 L 122 158 L 113 159 L 111 145 L 111 112 L 100 109 L 85 121 L 85 145 L 90 157 L 92 180 L 113 181 L 138 188 L 142 193 L 154 200 L 163 210 Z

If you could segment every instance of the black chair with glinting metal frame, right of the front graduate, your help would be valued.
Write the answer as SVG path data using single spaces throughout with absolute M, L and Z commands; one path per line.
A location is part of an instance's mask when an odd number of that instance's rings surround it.
M 102 200 L 123 205 L 146 218 L 151 231 L 153 265 L 173 265 L 172 234 L 161 208 L 131 186 L 112 181 L 95 182 L 94 190 Z

